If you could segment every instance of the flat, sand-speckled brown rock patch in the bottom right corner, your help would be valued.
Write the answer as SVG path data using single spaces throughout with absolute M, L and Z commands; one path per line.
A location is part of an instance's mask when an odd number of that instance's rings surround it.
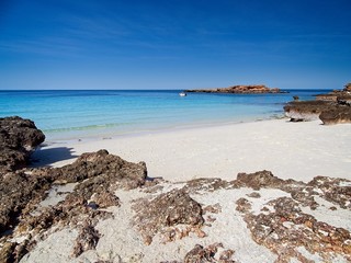
M 268 203 L 274 211 L 254 215 L 245 213 L 245 221 L 252 239 L 279 255 L 278 262 L 296 259 L 308 262 L 297 249 L 304 247 L 312 254 L 319 254 L 331 262 L 337 254 L 350 260 L 350 232 L 326 222 L 317 221 L 312 215 L 302 213 L 298 203 L 280 197 Z

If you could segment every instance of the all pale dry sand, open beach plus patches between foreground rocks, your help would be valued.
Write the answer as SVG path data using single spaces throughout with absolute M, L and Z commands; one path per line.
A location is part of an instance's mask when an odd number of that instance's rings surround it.
M 351 125 L 322 126 L 319 122 L 288 123 L 286 119 L 264 121 L 237 125 L 223 125 L 159 134 L 115 137 L 54 144 L 43 147 L 35 158 L 37 164 L 60 167 L 72 162 L 75 156 L 87 151 L 106 149 L 123 159 L 145 161 L 150 178 L 163 178 L 171 182 L 182 182 L 195 178 L 222 178 L 234 180 L 238 172 L 270 170 L 282 179 L 309 181 L 316 175 L 344 178 L 351 180 Z M 65 160 L 63 160 L 65 159 Z M 54 162 L 55 161 L 55 162 Z M 162 183 L 161 192 L 183 183 Z M 257 213 L 272 199 L 290 196 L 281 190 L 260 190 L 260 198 L 250 198 L 251 188 L 219 190 L 193 194 L 192 198 L 205 205 L 219 203 L 222 211 L 212 215 L 215 221 L 205 226 L 205 238 L 195 235 L 162 243 L 155 237 L 150 245 L 145 245 L 139 232 L 131 226 L 134 211 L 132 201 L 150 196 L 139 190 L 117 191 L 122 206 L 109 208 L 115 219 L 100 221 L 97 229 L 102 235 L 95 250 L 89 250 L 79 258 L 71 256 L 76 229 L 66 228 L 52 233 L 22 259 L 21 262 L 181 262 L 195 244 L 208 245 L 222 242 L 225 249 L 235 251 L 236 262 L 274 262 L 278 255 L 268 248 L 257 244 L 242 216 L 235 209 L 240 197 L 252 202 Z M 152 194 L 151 194 L 152 195 Z M 317 199 L 320 205 L 304 213 L 317 220 L 351 231 L 349 209 L 330 210 L 335 204 Z M 318 254 L 310 254 L 303 247 L 298 252 L 315 262 L 326 262 Z M 278 261 L 280 262 L 280 261 Z M 292 262 L 298 262 L 293 260 Z M 328 261 L 327 261 L 328 262 Z M 347 262 L 333 258 L 330 262 Z

